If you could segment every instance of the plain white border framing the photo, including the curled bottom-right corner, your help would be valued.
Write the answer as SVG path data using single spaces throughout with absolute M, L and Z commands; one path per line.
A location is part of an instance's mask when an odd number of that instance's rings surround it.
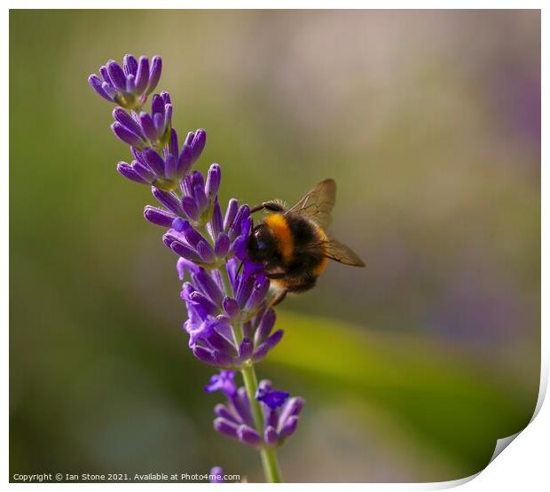
M 57 1 L 57 2 L 43 2 L 43 1 L 20 1 L 20 2 L 8 2 L 9 6 L 14 9 L 33 9 L 33 8 L 66 8 L 71 9 L 75 8 L 74 4 L 71 4 L 67 1 Z M 106 2 L 103 0 L 98 0 L 93 4 L 91 2 L 87 3 L 88 5 L 79 5 L 80 8 L 112 8 L 113 2 Z M 417 2 L 406 2 L 406 1 L 388 1 L 388 2 L 358 2 L 350 0 L 341 0 L 337 4 L 334 2 L 304 2 L 304 1 L 289 1 L 289 0 L 280 0 L 279 2 L 275 1 L 263 1 L 263 2 L 250 2 L 250 1 L 235 1 L 235 2 L 223 2 L 223 1 L 214 1 L 214 0 L 203 0 L 203 1 L 188 1 L 185 4 L 182 2 L 177 2 L 175 0 L 165 0 L 162 3 L 164 8 L 167 9 L 181 9 L 192 8 L 192 9 L 220 9 L 220 8 L 274 8 L 274 9 L 319 9 L 319 8 L 379 8 L 379 9 L 542 9 L 543 3 L 538 1 L 523 1 L 523 2 L 495 2 L 495 1 L 473 1 L 473 0 L 462 0 L 460 2 L 434 2 L 434 1 L 417 1 Z M 117 8 L 150 8 L 152 4 L 145 2 L 145 0 L 134 0 L 132 2 L 120 2 L 115 5 Z M 8 34 L 8 10 L 4 9 L 2 15 L 2 52 L 4 54 L 4 70 L 8 70 L 7 60 L 9 58 L 9 34 Z M 543 70 L 542 70 L 542 87 L 545 87 L 545 82 L 548 81 L 548 16 L 546 15 L 545 9 L 542 9 L 542 60 L 543 60 Z M 29 33 L 32 35 L 32 33 Z M 546 63 L 545 63 L 546 62 Z M 0 88 L 2 93 L 8 93 L 8 76 L 0 77 Z M 5 100 L 6 98 L 4 98 Z M 6 103 L 4 103 L 6 105 Z M 546 121 L 548 117 L 548 98 L 543 91 L 542 95 L 542 135 L 546 134 Z M 2 146 L 4 153 L 4 160 L 2 165 L 4 166 L 4 176 L 8 174 L 7 163 L 9 161 L 9 147 L 8 147 L 8 109 L 4 109 L 4 119 L 2 121 L 2 127 L 0 135 L 2 136 Z M 547 162 L 548 160 L 548 144 L 547 141 L 543 138 L 542 140 L 542 162 Z M 548 171 L 546 166 L 542 167 L 542 217 L 548 217 L 550 208 L 548 206 L 548 200 L 546 197 L 546 192 L 550 191 L 550 186 L 548 182 Z M 9 207 L 9 190 L 8 190 L 8 181 L 4 180 L 4 193 L 2 193 L 0 200 L 4 206 L 5 211 Z M 7 221 L 4 221 L 6 223 Z M 7 224 L 4 225 L 4 237 L 5 240 L 2 241 L 2 254 L 0 259 L 0 269 L 3 272 L 8 272 L 9 260 L 8 260 L 8 230 Z M 548 253 L 548 228 L 547 225 L 542 223 L 542 249 L 546 250 Z M 547 257 L 547 256 L 546 256 Z M 541 348 L 542 348 L 542 368 L 541 368 L 541 389 L 538 399 L 537 411 L 535 412 L 535 418 L 530 423 L 530 425 L 522 432 L 517 435 L 517 439 L 509 446 L 502 454 L 498 455 L 491 465 L 489 465 L 485 470 L 476 475 L 475 480 L 469 480 L 466 478 L 463 480 L 454 480 L 452 482 L 439 482 L 439 483 L 425 483 L 425 484 L 340 484 L 339 488 L 342 486 L 350 490 L 434 490 L 442 488 L 456 487 L 458 485 L 466 483 L 463 487 L 468 488 L 471 491 L 486 491 L 488 488 L 499 488 L 499 490 L 517 490 L 517 488 L 526 488 L 527 490 L 539 490 L 542 488 L 542 484 L 548 483 L 548 465 L 546 463 L 546 436 L 550 435 L 550 410 L 548 410 L 548 404 L 542 406 L 544 400 L 544 395 L 546 394 L 547 380 L 548 380 L 548 354 L 549 354 L 549 343 L 548 343 L 548 321 L 549 314 L 547 306 L 550 305 L 550 291 L 548 291 L 548 277 L 549 277 L 549 263 L 543 255 L 542 258 L 542 339 L 541 339 Z M 0 312 L 3 313 L 3 326 L 4 328 L 4 378 L 2 379 L 4 394 L 8 394 L 8 370 L 9 370 L 9 312 L 8 312 L 8 292 L 9 292 L 9 278 L 7 275 L 4 276 L 4 282 L 2 283 L 2 305 L 0 306 Z M 3 447 L 3 456 L 2 456 L 2 471 L 4 483 L 8 479 L 9 469 L 8 469 L 8 457 L 9 457 L 9 441 L 8 441 L 8 421 L 9 421 L 9 409 L 7 404 L 7 399 L 4 401 L 3 407 L 3 437 L 4 437 L 4 447 Z M 537 412 L 539 411 L 538 415 Z M 63 488 L 66 490 L 75 488 L 75 487 L 88 487 L 88 488 L 120 488 L 120 487 L 129 487 L 130 484 L 64 484 Z M 204 484 L 131 484 L 132 488 L 151 488 L 151 487 L 178 487 L 182 488 L 203 488 Z M 252 484 L 248 485 L 250 487 Z M 31 484 L 11 484 L 11 486 L 18 488 L 27 488 L 33 487 Z M 43 484 L 43 487 L 46 488 L 57 488 L 59 484 Z M 208 487 L 208 486 L 206 486 Z M 212 487 L 220 487 L 220 485 L 212 485 Z M 225 484 L 224 488 L 237 488 L 243 487 L 240 484 Z M 277 487 L 266 484 L 254 484 L 254 488 L 269 488 Z M 286 488 L 334 488 L 334 485 L 323 485 L 323 484 L 286 484 Z

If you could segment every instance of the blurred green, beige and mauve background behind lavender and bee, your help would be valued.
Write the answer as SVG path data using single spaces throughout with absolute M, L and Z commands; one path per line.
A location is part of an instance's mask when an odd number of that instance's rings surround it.
M 478 472 L 530 420 L 540 350 L 538 11 L 12 11 L 11 472 L 226 472 L 218 395 L 181 330 L 176 257 L 86 79 L 160 54 L 222 199 L 332 176 L 331 264 L 285 301 L 260 377 L 307 400 L 290 481 Z

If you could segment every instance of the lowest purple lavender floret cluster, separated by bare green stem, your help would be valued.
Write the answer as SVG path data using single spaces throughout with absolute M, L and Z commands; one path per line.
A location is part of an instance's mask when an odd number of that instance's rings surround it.
M 278 447 L 295 433 L 303 408 L 302 398 L 288 398 L 286 392 L 273 390 L 271 381 L 260 381 L 255 397 L 262 402 L 264 424 L 263 435 L 260 435 L 255 430 L 247 392 L 244 387 L 237 387 L 233 378 L 232 371 L 220 371 L 205 387 L 208 393 L 221 391 L 227 399 L 225 404 L 217 404 L 214 408 L 214 428 L 218 433 L 254 448 Z

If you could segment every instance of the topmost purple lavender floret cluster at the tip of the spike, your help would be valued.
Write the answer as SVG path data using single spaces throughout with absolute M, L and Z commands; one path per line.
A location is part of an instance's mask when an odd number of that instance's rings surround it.
M 107 101 L 138 110 L 159 83 L 161 71 L 161 57 L 153 57 L 149 66 L 147 57 L 140 57 L 138 61 L 132 55 L 125 55 L 122 66 L 111 59 L 99 68 L 101 76 L 92 74 L 88 82 Z

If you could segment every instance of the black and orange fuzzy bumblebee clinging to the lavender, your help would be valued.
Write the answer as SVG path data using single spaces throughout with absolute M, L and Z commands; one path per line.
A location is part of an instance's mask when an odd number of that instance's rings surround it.
M 327 228 L 336 199 L 334 179 L 326 179 L 310 190 L 294 207 L 279 200 L 265 201 L 251 213 L 268 213 L 254 227 L 248 239 L 251 260 L 261 262 L 278 292 L 271 306 L 279 304 L 287 293 L 303 293 L 315 286 L 327 261 L 364 267 L 365 263 L 333 238 Z

